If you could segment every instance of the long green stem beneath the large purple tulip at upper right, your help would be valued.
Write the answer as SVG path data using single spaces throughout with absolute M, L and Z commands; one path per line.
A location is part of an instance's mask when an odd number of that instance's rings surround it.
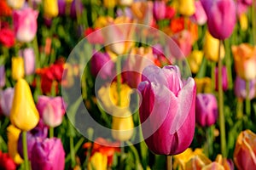
M 221 43 L 222 41 L 219 41 L 219 47 L 218 47 L 218 114 L 219 114 L 221 153 L 224 157 L 226 157 L 224 97 L 223 97 L 223 89 L 222 89 L 222 59 L 220 57 Z

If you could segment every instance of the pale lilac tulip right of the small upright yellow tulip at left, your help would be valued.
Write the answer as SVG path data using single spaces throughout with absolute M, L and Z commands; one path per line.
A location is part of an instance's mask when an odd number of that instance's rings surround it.
M 20 56 L 24 59 L 26 75 L 32 75 L 35 72 L 35 53 L 33 48 L 25 48 L 20 50 Z

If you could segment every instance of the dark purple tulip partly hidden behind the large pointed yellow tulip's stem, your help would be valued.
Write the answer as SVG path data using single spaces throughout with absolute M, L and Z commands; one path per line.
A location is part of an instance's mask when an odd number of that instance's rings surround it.
M 27 153 L 28 159 L 32 159 L 32 148 L 37 141 L 43 141 L 47 138 L 48 135 L 48 127 L 43 125 L 43 120 L 40 119 L 38 126 L 33 128 L 31 131 L 26 133 L 26 144 L 27 144 Z M 22 135 L 20 133 L 20 137 L 18 140 L 18 152 L 20 156 L 23 158 L 23 146 L 22 146 Z

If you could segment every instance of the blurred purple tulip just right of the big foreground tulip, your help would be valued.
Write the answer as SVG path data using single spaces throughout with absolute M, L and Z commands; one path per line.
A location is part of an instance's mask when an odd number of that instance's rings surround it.
M 218 118 L 217 99 L 213 94 L 197 94 L 195 121 L 202 127 L 213 125 Z

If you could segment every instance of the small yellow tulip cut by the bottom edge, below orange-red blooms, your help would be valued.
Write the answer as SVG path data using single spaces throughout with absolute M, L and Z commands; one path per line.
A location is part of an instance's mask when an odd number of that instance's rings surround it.
M 88 163 L 88 170 L 107 170 L 108 156 L 103 155 L 101 152 L 96 152 L 90 157 Z

